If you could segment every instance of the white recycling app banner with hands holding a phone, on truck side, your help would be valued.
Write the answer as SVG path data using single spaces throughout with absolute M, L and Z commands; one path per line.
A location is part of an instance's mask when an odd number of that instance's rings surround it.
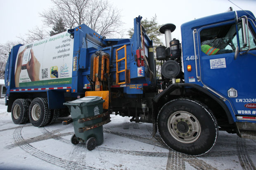
M 19 47 L 15 86 L 71 84 L 73 44 L 69 33 L 60 33 Z

